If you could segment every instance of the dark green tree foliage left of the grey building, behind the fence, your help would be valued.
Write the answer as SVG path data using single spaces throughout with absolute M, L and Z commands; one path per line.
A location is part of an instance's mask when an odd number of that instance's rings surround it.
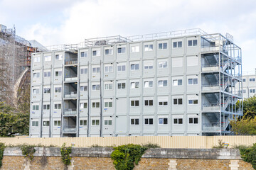
M 0 103 L 0 137 L 28 134 L 29 116 L 16 111 L 5 103 Z

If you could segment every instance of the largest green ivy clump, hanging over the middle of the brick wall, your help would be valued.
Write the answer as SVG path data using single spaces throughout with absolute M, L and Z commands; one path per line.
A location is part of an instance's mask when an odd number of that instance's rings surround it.
M 114 152 L 111 154 L 111 159 L 114 161 L 114 167 L 117 170 L 134 169 L 134 164 L 139 163 L 139 160 L 146 149 L 146 147 L 134 144 L 114 147 Z

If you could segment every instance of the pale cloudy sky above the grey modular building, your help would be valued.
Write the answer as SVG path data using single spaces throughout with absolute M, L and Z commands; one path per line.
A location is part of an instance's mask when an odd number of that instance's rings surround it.
M 201 28 L 233 35 L 243 72 L 256 68 L 255 0 L 0 0 L 0 24 L 45 46 Z

